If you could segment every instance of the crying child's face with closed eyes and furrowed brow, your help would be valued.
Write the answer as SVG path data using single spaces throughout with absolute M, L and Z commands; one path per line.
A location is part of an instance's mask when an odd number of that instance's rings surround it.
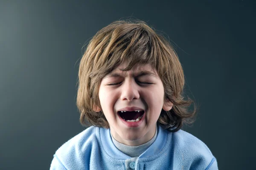
M 121 64 L 102 79 L 99 101 L 113 137 L 123 144 L 137 146 L 154 136 L 162 108 L 170 110 L 172 103 L 164 100 L 163 83 L 149 64 L 121 71 L 125 66 L 126 63 Z

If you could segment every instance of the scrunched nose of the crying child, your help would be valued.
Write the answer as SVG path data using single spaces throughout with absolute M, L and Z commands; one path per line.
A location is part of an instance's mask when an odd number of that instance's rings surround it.
M 121 100 L 128 101 L 140 98 L 138 86 L 134 80 L 130 79 L 123 82 L 123 88 L 120 98 Z

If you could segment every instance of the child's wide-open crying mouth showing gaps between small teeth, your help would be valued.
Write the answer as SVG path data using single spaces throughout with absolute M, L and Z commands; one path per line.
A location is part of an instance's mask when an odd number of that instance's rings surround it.
M 135 110 L 135 111 L 119 111 L 119 116 L 125 121 L 135 122 L 140 121 L 144 115 L 144 110 Z

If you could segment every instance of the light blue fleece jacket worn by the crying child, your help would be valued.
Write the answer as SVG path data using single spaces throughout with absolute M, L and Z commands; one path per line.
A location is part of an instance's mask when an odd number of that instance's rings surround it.
M 139 157 L 118 150 L 109 129 L 89 127 L 63 144 L 50 170 L 218 170 L 209 148 L 195 136 L 158 126 L 157 138 Z

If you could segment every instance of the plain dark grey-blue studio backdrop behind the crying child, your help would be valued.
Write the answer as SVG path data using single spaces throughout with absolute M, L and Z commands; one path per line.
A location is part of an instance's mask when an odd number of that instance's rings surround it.
M 131 16 L 176 44 L 186 92 L 200 106 L 184 129 L 219 169 L 256 168 L 255 9 L 249 0 L 0 0 L 0 169 L 49 169 L 55 150 L 85 129 L 76 108 L 81 48 Z

